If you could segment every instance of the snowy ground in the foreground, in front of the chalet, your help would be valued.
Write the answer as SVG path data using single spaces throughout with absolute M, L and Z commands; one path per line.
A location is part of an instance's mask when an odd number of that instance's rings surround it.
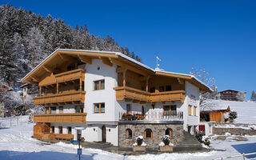
M 1 118 L 0 118 L 1 121 Z M 14 121 L 14 119 L 13 119 Z M 18 119 L 18 123 L 15 120 L 10 126 L 10 119 L 4 120 L 6 128 L 0 129 L 0 159 L 1 160 L 69 160 L 78 159 L 76 155 L 76 149 L 78 146 L 59 142 L 57 144 L 47 144 L 40 142 L 34 138 L 31 138 L 33 134 L 32 123 L 27 122 L 27 117 L 23 116 Z M 187 154 L 146 154 L 139 156 L 122 156 L 119 154 L 111 154 L 102 150 L 95 149 L 82 149 L 82 159 L 146 159 L 146 160 L 158 160 L 158 159 L 197 159 L 206 160 L 226 157 L 234 154 L 238 154 L 231 145 L 256 142 L 256 137 L 246 137 L 249 141 L 236 142 L 236 141 L 212 141 L 211 147 L 216 150 L 226 151 L 211 151 L 205 153 L 187 153 Z M 237 158 L 242 159 L 242 158 Z

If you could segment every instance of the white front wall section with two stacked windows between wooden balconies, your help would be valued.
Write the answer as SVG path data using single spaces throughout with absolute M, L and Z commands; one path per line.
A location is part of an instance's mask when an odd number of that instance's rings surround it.
M 100 70 L 98 70 L 98 67 Z M 94 81 L 105 79 L 105 90 L 94 90 Z M 93 59 L 92 64 L 86 65 L 85 77 L 85 112 L 87 122 L 114 122 L 118 121 L 115 114 L 115 90 L 117 86 L 118 74 L 116 65 L 107 66 L 98 59 Z M 105 113 L 94 114 L 94 103 L 105 102 Z

